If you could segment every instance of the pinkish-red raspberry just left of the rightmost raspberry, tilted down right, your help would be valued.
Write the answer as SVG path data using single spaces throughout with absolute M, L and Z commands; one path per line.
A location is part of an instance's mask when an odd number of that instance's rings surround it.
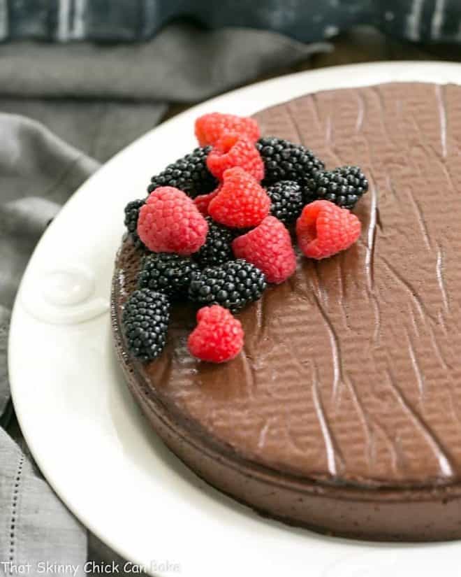
M 296 269 L 291 237 L 275 216 L 267 216 L 261 225 L 232 243 L 237 259 L 245 259 L 263 271 L 268 283 L 283 283 Z

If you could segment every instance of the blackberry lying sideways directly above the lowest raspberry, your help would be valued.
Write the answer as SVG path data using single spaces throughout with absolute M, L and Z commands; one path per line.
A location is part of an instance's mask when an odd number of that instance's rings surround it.
M 220 304 L 238 311 L 265 290 L 264 273 L 246 260 L 231 260 L 193 273 L 189 297 L 200 305 Z

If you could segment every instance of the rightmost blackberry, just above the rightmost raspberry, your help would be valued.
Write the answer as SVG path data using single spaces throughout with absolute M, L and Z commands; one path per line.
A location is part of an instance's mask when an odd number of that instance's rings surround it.
M 329 200 L 344 208 L 354 208 L 368 190 L 368 180 L 358 166 L 341 166 L 322 171 L 307 183 L 306 193 L 314 199 Z

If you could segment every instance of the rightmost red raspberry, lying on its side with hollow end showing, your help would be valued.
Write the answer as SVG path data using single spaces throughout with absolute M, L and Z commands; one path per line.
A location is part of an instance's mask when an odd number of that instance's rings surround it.
M 323 259 L 346 250 L 360 236 L 360 220 L 347 208 L 327 200 L 307 204 L 296 222 L 298 245 L 303 254 Z

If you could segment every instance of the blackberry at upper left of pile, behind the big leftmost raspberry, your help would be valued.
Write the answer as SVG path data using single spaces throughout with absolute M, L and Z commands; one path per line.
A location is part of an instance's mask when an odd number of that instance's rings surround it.
M 196 148 L 190 154 L 169 164 L 161 173 L 152 176 L 147 192 L 150 193 L 159 186 L 174 186 L 191 198 L 212 192 L 217 187 L 218 181 L 207 169 L 207 155 L 211 149 L 211 146 Z

